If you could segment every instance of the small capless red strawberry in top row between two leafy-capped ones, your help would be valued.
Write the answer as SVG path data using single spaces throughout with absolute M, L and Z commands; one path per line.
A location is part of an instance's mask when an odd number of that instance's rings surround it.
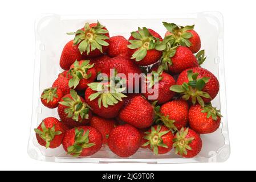
M 127 55 L 128 40 L 123 36 L 112 36 L 109 39 L 108 56 L 116 57 L 118 55 Z

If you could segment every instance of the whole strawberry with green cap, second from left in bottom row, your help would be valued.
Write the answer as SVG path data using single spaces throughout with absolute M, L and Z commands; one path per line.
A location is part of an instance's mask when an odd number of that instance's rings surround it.
M 66 132 L 62 145 L 72 156 L 91 156 L 100 150 L 102 137 L 94 127 L 80 126 Z

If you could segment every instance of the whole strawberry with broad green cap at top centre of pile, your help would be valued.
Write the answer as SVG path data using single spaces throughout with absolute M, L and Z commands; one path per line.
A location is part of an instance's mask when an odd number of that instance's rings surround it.
M 140 66 L 147 66 L 159 61 L 165 44 L 157 32 L 143 27 L 131 32 L 128 40 L 128 53 L 131 59 Z

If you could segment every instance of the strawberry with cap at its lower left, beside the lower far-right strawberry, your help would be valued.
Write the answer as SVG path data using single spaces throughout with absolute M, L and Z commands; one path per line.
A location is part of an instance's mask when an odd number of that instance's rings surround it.
M 172 130 L 180 130 L 188 123 L 189 105 L 184 100 L 167 102 L 160 108 L 160 120 Z

